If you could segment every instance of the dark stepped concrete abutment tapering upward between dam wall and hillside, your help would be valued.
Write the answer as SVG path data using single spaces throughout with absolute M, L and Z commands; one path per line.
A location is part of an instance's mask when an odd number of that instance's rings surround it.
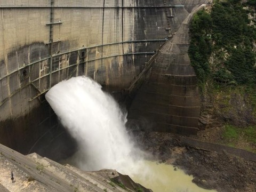
M 158 50 L 131 104 L 130 124 L 146 127 L 146 131 L 197 133 L 200 98 L 188 57 L 191 14 Z

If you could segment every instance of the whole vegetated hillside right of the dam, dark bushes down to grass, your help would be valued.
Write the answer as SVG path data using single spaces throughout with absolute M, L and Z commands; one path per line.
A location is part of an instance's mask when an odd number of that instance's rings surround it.
M 188 53 L 223 125 L 220 143 L 256 153 L 255 9 L 256 0 L 214 0 L 193 17 Z

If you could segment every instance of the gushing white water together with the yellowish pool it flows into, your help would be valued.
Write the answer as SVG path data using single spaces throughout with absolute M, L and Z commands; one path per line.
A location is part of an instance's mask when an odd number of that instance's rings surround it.
M 126 113 L 92 79 L 60 82 L 46 100 L 77 143 L 76 153 L 61 163 L 85 171 L 115 169 L 153 191 L 209 191 L 178 167 L 146 160 L 151 155 L 141 151 L 125 129 Z

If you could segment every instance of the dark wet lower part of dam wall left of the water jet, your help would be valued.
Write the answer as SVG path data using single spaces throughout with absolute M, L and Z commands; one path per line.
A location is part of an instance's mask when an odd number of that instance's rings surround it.
M 54 160 L 72 155 L 76 144 L 59 125 L 47 102 L 25 116 L 0 122 L 0 143 L 22 154 L 36 152 Z

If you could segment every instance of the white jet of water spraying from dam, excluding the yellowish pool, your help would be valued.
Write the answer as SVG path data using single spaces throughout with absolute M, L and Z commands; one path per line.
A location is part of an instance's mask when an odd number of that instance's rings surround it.
M 133 164 L 126 114 L 88 77 L 53 86 L 45 95 L 63 126 L 78 142 L 76 164 L 83 170 L 117 169 Z

